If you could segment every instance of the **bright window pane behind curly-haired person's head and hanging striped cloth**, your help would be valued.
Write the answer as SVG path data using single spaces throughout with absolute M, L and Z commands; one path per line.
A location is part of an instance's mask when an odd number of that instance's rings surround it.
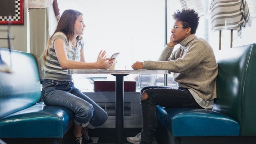
M 210 26 L 210 14 L 209 14 L 209 8 L 210 8 L 210 0 L 201 0 L 202 5 L 204 7 L 206 15 L 200 16 L 199 20 L 199 26 L 196 31 L 196 36 L 200 38 L 204 38 L 207 40 L 210 45 L 212 46 L 214 51 L 217 51 L 219 49 L 219 31 L 212 32 L 211 26 Z M 256 31 L 255 26 L 255 13 L 256 13 L 256 3 L 253 0 L 247 0 L 246 1 L 249 6 L 250 15 L 252 18 L 252 24 L 251 27 L 246 26 L 245 28 L 242 28 L 242 34 L 241 37 L 237 36 L 237 31 L 233 31 L 233 47 L 241 46 L 245 44 L 252 44 L 255 43 L 256 40 L 251 38 L 251 36 L 254 35 L 254 32 Z M 170 31 L 171 26 L 174 23 L 174 20 L 172 19 L 172 14 L 176 10 L 180 10 L 180 0 L 168 0 L 168 38 L 170 38 Z M 230 48 L 230 30 L 222 30 L 222 41 L 221 41 L 221 48 Z

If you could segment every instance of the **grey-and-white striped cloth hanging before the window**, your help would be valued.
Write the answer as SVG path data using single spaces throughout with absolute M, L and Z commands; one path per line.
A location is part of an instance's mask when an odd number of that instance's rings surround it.
M 251 25 L 248 4 L 245 0 L 212 0 L 210 6 L 212 31 L 239 30 Z

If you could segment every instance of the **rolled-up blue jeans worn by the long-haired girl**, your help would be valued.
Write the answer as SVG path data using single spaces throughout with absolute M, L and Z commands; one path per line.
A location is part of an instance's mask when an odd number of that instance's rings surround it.
M 72 81 L 43 81 L 42 98 L 47 106 L 63 106 L 74 112 L 74 123 L 83 128 L 96 128 L 108 119 L 107 113 L 78 90 Z

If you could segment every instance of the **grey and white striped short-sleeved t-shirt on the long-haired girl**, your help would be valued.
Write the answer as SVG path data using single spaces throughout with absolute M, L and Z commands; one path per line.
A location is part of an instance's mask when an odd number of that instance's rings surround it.
M 63 32 L 56 32 L 52 38 L 48 55 L 46 56 L 44 67 L 44 79 L 69 81 L 72 80 L 72 75 L 68 74 L 68 70 L 63 70 L 60 66 L 58 58 L 54 50 L 54 41 L 56 38 L 61 38 L 66 43 L 65 50 L 68 60 L 80 61 L 80 50 L 84 47 L 83 40 L 77 41 L 77 46 L 69 44 L 66 35 Z M 71 48 L 69 48 L 71 46 Z

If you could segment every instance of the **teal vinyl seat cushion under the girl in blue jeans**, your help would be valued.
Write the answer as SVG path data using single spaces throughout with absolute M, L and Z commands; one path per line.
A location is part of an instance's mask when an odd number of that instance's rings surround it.
M 73 112 L 43 102 L 0 119 L 0 138 L 62 138 L 72 126 Z

